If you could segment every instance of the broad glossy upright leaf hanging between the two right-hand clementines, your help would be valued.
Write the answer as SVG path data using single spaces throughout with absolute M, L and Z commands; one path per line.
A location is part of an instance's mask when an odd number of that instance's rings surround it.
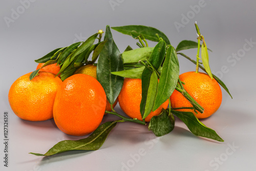
M 174 47 L 170 46 L 167 49 L 163 63 L 153 111 L 157 110 L 174 92 L 179 78 L 179 71 L 177 54 Z

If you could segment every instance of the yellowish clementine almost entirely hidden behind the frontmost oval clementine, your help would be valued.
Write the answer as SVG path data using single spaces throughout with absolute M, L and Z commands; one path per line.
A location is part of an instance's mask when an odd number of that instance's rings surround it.
M 86 75 L 90 75 L 93 78 L 97 79 L 97 67 L 93 66 L 92 64 L 81 66 L 75 71 L 74 74 L 86 74 Z M 113 104 L 113 109 L 115 108 L 116 104 L 117 104 L 117 99 Z M 105 110 L 112 111 L 110 102 L 108 100 L 106 100 L 106 109 Z M 107 113 L 105 113 L 105 114 L 107 114 Z

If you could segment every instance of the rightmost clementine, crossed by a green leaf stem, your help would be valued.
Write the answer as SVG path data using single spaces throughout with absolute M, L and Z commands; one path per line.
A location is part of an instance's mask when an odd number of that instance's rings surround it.
M 181 74 L 180 80 L 185 82 L 184 89 L 192 96 L 203 108 L 204 113 L 194 110 L 180 109 L 177 111 L 193 112 L 199 118 L 207 118 L 214 114 L 220 107 L 222 101 L 222 92 L 218 82 L 211 79 L 209 75 L 204 73 L 186 72 Z M 170 104 L 172 108 L 192 107 L 189 101 L 177 90 L 170 96 Z

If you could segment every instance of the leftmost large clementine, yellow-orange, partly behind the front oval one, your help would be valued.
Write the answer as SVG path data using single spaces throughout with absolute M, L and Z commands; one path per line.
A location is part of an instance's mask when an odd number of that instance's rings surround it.
M 31 73 L 13 82 L 8 98 L 13 112 L 24 120 L 43 121 L 53 118 L 53 103 L 62 81 L 49 72 Z

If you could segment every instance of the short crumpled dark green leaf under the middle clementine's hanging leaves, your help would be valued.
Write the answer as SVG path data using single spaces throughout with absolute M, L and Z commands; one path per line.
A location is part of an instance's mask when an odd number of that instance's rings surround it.
M 157 137 L 161 137 L 173 131 L 174 129 L 174 116 L 170 115 L 163 109 L 162 113 L 158 116 L 153 116 L 148 125 L 148 130 L 151 130 Z

